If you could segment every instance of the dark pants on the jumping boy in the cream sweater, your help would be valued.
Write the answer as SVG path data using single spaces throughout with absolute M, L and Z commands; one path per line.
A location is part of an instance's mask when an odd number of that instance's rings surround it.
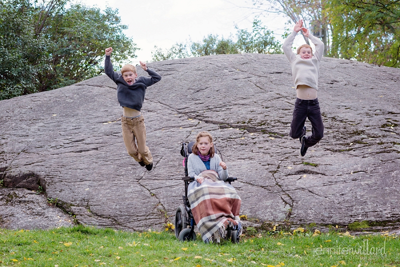
M 302 135 L 306 118 L 311 122 L 311 135 L 305 138 L 305 147 L 310 147 L 323 137 L 323 123 L 318 98 L 312 100 L 296 98 L 290 123 L 289 135 L 291 138 L 298 138 Z

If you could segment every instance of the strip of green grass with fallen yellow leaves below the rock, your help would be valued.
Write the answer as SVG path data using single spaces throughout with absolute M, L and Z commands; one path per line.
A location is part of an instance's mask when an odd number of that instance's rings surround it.
M 400 238 L 298 228 L 232 244 L 180 242 L 171 232 L 95 227 L 0 229 L 0 266 L 400 266 Z

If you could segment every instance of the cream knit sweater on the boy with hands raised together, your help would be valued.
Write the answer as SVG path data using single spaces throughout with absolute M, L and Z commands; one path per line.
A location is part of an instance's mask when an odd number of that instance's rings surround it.
M 309 34 L 308 39 L 315 45 L 315 51 L 310 59 L 302 59 L 299 54 L 291 50 L 296 35 L 297 32 L 293 30 L 282 44 L 282 50 L 291 65 L 294 86 L 297 88 L 297 85 L 304 84 L 318 90 L 319 62 L 323 54 L 323 42 Z

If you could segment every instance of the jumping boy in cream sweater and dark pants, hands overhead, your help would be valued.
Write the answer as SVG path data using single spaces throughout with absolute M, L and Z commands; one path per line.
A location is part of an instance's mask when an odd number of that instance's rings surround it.
M 323 42 L 313 36 L 308 29 L 302 27 L 302 19 L 294 25 L 293 31 L 282 44 L 284 54 L 291 65 L 293 82 L 297 98 L 294 103 L 293 117 L 290 123 L 290 137 L 301 142 L 300 155 L 304 156 L 307 148 L 315 145 L 323 137 L 323 123 L 317 98 L 319 62 L 323 54 Z M 302 30 L 303 35 L 315 45 L 315 53 L 311 46 L 302 44 L 297 54 L 291 50 L 296 34 Z M 311 135 L 305 136 L 305 119 L 311 122 Z

